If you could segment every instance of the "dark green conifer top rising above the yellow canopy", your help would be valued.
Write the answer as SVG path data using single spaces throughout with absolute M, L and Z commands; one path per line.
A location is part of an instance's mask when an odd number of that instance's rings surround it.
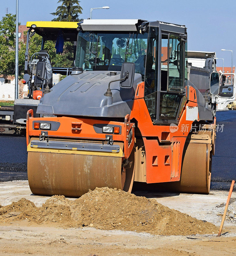
M 82 21 L 79 19 L 79 14 L 82 14 L 82 7 L 79 5 L 79 0 L 59 0 L 58 3 L 62 3 L 57 7 L 56 12 L 50 14 L 58 16 L 52 21 Z

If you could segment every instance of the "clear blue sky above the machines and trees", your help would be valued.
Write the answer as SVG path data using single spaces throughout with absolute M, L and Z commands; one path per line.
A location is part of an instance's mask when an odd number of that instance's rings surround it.
M 58 0 L 19 0 L 19 21 L 51 20 L 57 8 Z M 0 0 L 0 18 L 8 13 L 15 13 L 16 0 Z M 224 58 L 224 66 L 236 64 L 236 1 L 218 0 L 81 0 L 83 8 L 81 18 L 90 16 L 90 7 L 109 6 L 109 10 L 94 10 L 93 19 L 144 19 L 161 20 L 186 25 L 188 32 L 188 50 L 216 51 L 216 57 Z M 222 67 L 222 60 L 217 61 Z

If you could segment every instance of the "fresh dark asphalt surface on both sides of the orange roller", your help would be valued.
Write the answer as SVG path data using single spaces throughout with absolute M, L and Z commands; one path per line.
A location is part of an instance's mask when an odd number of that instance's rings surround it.
M 217 111 L 216 124 L 211 188 L 229 190 L 236 179 L 236 111 Z M 27 180 L 26 138 L 0 134 L 0 182 L 11 180 Z

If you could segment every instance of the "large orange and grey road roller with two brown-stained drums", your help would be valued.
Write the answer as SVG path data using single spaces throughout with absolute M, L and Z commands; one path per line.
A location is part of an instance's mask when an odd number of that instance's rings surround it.
M 35 195 L 130 191 L 133 182 L 209 193 L 219 74 L 188 79 L 183 25 L 78 23 L 75 67 L 27 114 L 28 181 Z

